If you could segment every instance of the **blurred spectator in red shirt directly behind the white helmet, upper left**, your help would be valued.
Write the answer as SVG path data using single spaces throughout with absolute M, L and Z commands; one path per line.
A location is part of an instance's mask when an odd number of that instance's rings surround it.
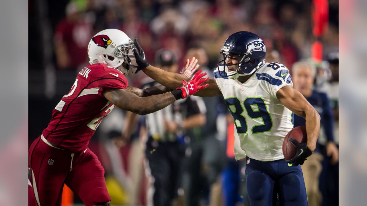
M 92 37 L 91 22 L 81 12 L 85 7 L 72 1 L 66 16 L 55 29 L 55 54 L 58 69 L 77 70 L 88 63 L 87 45 Z

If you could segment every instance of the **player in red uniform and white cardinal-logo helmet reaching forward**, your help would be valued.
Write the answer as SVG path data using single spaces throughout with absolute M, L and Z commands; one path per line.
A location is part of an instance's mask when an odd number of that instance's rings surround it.
M 207 79 L 200 80 L 206 73 L 199 70 L 171 92 L 163 86 L 130 87 L 125 76 L 133 66 L 132 49 L 134 42 L 117 29 L 103 30 L 91 39 L 90 65 L 79 72 L 52 111 L 47 128 L 29 148 L 30 180 L 38 205 L 61 205 L 63 184 L 87 206 L 110 205 L 105 171 L 88 149 L 102 119 L 116 106 L 141 115 L 153 113 L 208 86 L 201 85 Z

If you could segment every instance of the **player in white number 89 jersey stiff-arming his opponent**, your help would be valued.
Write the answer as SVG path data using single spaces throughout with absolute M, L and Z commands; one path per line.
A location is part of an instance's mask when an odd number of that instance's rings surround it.
M 183 76 L 149 65 L 135 38 L 138 70 L 160 84 L 175 89 Z M 195 95 L 223 95 L 235 119 L 236 159 L 246 157 L 246 184 L 251 205 L 307 205 L 300 164 L 312 154 L 320 133 L 320 116 L 293 89 L 288 69 L 280 63 L 265 63 L 264 41 L 251 32 L 230 35 L 220 52 L 223 60 L 209 86 Z M 149 65 L 149 66 L 148 66 Z M 186 78 L 188 80 L 188 78 Z M 307 143 L 291 140 L 296 156 L 285 161 L 282 143 L 293 128 L 292 112 L 306 119 Z

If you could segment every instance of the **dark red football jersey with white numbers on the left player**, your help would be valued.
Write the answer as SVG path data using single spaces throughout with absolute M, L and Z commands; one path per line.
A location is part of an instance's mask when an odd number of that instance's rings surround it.
M 126 87 L 125 76 L 114 67 L 102 63 L 87 65 L 52 111 L 43 136 L 59 148 L 75 153 L 85 150 L 99 123 L 116 107 L 102 91 Z

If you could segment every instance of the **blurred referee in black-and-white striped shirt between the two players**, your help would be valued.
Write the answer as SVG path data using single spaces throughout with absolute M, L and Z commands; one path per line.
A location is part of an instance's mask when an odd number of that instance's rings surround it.
M 156 52 L 156 64 L 163 70 L 177 72 L 174 54 L 168 50 Z M 159 85 L 146 80 L 142 88 Z M 185 139 L 191 129 L 206 123 L 204 101 L 197 96 L 178 100 L 173 104 L 145 115 L 148 132 L 145 169 L 149 177 L 148 205 L 168 206 L 177 197 L 181 186 L 181 165 L 185 156 Z

